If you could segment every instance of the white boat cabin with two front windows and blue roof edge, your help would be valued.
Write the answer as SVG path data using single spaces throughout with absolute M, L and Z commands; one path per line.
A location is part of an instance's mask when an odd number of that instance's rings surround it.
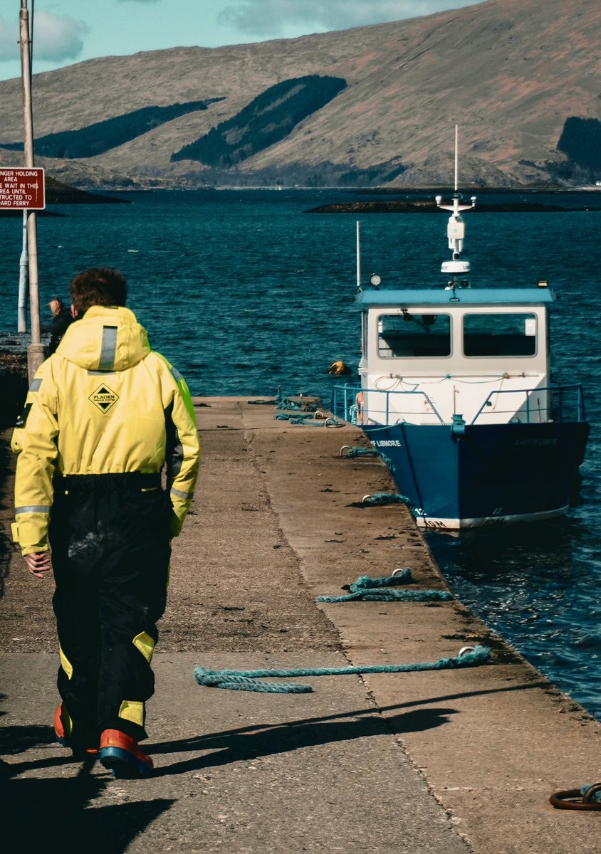
M 553 420 L 548 307 L 537 288 L 365 290 L 363 424 Z

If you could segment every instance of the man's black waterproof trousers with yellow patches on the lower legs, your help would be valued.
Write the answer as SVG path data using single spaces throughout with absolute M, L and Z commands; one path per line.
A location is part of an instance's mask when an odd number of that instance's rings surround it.
M 171 506 L 159 475 L 55 477 L 50 547 L 58 690 L 73 737 L 146 737 L 150 658 L 167 600 Z

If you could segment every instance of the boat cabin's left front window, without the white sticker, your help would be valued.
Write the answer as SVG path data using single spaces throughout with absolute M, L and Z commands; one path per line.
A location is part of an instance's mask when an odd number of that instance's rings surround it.
M 451 317 L 448 314 L 380 314 L 378 355 L 382 359 L 451 355 Z

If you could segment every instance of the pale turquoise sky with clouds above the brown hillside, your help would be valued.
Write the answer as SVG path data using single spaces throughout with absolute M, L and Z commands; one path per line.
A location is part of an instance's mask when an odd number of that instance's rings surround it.
M 140 50 L 220 47 L 431 15 L 482 0 L 26 0 L 33 73 Z M 23 0 L 0 3 L 0 80 L 21 77 Z

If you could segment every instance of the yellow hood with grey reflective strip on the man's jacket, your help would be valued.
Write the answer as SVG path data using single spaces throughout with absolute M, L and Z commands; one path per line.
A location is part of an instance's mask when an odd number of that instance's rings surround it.
M 150 353 L 150 344 L 129 308 L 92 306 L 68 327 L 56 353 L 88 371 L 125 371 Z

